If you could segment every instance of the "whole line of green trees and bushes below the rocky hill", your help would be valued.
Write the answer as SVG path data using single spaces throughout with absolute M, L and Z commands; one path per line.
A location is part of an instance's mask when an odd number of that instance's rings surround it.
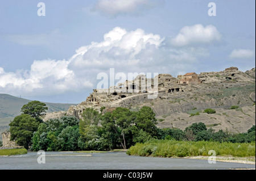
M 184 131 L 181 129 L 157 128 L 155 113 L 150 107 L 139 111 L 118 107 L 113 112 L 102 114 L 86 108 L 82 119 L 63 116 L 43 122 L 40 117 L 46 113 L 46 104 L 30 102 L 22 107 L 22 115 L 11 121 L 11 140 L 24 148 L 38 151 L 75 151 L 128 149 L 137 142 L 151 138 L 182 141 L 255 141 L 255 125 L 246 133 L 234 134 L 228 131 L 215 132 L 204 123 L 193 123 Z

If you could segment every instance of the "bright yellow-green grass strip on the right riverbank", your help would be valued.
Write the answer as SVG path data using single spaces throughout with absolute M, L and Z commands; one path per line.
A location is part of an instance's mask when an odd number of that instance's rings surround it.
M 213 141 L 150 140 L 144 144 L 137 143 L 135 146 L 131 146 L 126 153 L 151 157 L 189 157 L 209 156 L 210 150 L 214 150 L 216 156 L 255 157 L 255 142 L 241 144 Z

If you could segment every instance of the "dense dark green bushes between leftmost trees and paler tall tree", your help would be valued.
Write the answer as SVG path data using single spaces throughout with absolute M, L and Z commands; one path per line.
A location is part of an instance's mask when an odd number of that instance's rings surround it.
M 73 116 L 50 119 L 41 123 L 32 137 L 31 150 L 75 151 L 79 150 L 79 122 Z

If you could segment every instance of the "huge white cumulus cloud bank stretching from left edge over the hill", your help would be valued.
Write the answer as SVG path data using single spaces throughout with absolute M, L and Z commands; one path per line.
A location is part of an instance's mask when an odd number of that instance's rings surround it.
M 213 27 L 210 29 L 214 30 Z M 186 33 L 184 35 L 187 36 Z M 214 40 L 210 39 L 207 43 Z M 205 41 L 197 40 L 197 43 L 204 44 Z M 202 47 L 177 48 L 166 44 L 165 37 L 141 28 L 127 31 L 115 27 L 105 33 L 102 41 L 78 48 L 69 60 L 35 60 L 30 70 L 16 72 L 6 72 L 0 68 L 0 92 L 36 96 L 93 89 L 98 83 L 97 74 L 109 73 L 110 68 L 114 68 L 115 73 L 175 75 L 190 71 L 193 66 L 196 67 L 199 58 L 207 56 L 207 49 Z

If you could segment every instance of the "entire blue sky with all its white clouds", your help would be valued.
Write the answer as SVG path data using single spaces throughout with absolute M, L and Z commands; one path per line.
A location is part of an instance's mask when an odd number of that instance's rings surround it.
M 230 66 L 255 68 L 254 0 L 0 1 L 0 94 L 78 104 L 110 69 Z

